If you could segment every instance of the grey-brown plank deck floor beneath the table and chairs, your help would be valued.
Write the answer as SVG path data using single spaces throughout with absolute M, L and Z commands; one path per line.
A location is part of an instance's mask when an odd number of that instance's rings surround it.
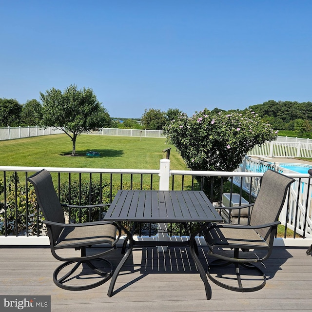
M 206 249 L 200 248 L 205 265 Z M 212 282 L 212 299 L 187 248 L 137 248 L 121 270 L 115 294 L 109 282 L 87 291 L 66 291 L 52 280 L 60 264 L 48 248 L 0 248 L 1 295 L 51 295 L 51 311 L 312 311 L 312 257 L 306 248 L 275 247 L 264 263 L 268 280 L 257 292 L 233 292 Z M 120 249 L 110 254 L 116 265 Z M 261 265 L 261 264 L 260 264 Z

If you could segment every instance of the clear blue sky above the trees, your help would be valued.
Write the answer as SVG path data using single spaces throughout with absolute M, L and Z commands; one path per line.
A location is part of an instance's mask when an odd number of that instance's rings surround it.
M 311 0 L 0 0 L 0 98 L 71 84 L 111 117 L 312 101 Z

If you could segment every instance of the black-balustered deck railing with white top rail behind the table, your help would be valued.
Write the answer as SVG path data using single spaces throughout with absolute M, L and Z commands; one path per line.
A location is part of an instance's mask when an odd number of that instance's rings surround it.
M 37 207 L 33 187 L 27 177 L 41 168 L 6 167 L 0 169 L 0 235 L 44 235 L 42 215 Z M 159 170 L 93 170 L 79 168 L 46 168 L 51 172 L 60 201 L 73 205 L 109 204 L 119 189 L 153 190 L 159 188 Z M 253 202 L 261 183 L 262 174 L 255 173 L 211 173 L 171 171 L 171 190 L 203 190 L 216 206 L 222 205 L 223 194 L 239 196 L 239 204 Z M 309 175 L 297 175 L 288 195 L 287 208 L 282 218 L 284 237 L 312 237 L 311 183 Z M 99 220 L 105 209 L 67 209 L 68 222 Z M 229 222 L 225 217 L 225 222 Z M 194 232 L 196 224 L 188 224 Z M 154 224 L 140 225 L 138 235 L 156 234 Z M 297 234 L 296 234 L 297 233 Z M 169 224 L 169 235 L 187 235 L 182 224 Z

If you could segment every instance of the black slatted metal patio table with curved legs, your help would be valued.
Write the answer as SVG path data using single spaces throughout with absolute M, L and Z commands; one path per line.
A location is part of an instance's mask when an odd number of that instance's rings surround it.
M 117 276 L 132 253 L 134 246 L 190 246 L 190 253 L 204 283 L 206 297 L 211 299 L 211 287 L 208 283 L 206 272 L 198 257 L 195 236 L 208 222 L 221 222 L 222 218 L 215 210 L 210 200 L 203 191 L 135 191 L 120 190 L 117 192 L 105 220 L 115 221 L 123 229 L 129 240 L 129 246 L 124 256 L 117 265 L 112 276 L 108 296 L 113 295 Z M 183 223 L 199 222 L 201 228 L 190 233 L 187 241 L 137 241 L 133 233 L 127 230 L 122 222 L 134 223 Z

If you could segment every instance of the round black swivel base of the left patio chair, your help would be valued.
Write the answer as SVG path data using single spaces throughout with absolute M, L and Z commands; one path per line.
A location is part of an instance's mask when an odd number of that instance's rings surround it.
M 98 269 L 98 267 L 96 267 L 93 262 L 95 261 L 100 261 L 102 263 L 105 264 L 105 266 L 108 268 L 107 271 L 103 271 L 101 269 Z M 74 265 L 74 267 L 68 272 L 66 273 L 64 276 L 60 277 L 58 279 L 58 275 L 61 272 L 62 269 L 64 269 L 65 267 L 69 266 L 69 265 L 73 265 L 74 263 L 76 263 Z M 79 266 L 87 266 L 87 268 L 91 269 L 94 273 L 102 276 L 102 278 L 96 282 L 96 283 L 92 283 L 92 284 L 88 284 L 88 285 L 81 285 L 81 286 L 74 286 L 74 285 L 69 285 L 66 284 L 68 282 L 70 282 L 71 280 L 78 278 L 81 280 L 87 280 L 88 277 L 81 277 L 79 276 L 79 274 L 77 275 L 73 275 L 77 269 L 79 268 Z M 106 281 L 108 281 L 113 275 L 113 265 L 110 261 L 106 260 L 106 259 L 102 259 L 102 258 L 97 258 L 97 259 L 93 259 L 93 260 L 82 260 L 82 261 L 67 261 L 62 263 L 53 273 L 53 281 L 54 283 L 62 288 L 62 289 L 66 289 L 69 291 L 81 291 L 81 290 L 87 290 L 87 289 L 92 289 L 95 287 L 98 287 L 99 285 L 104 284 Z M 94 277 L 97 278 L 97 277 Z M 92 278 L 93 279 L 93 278 Z

